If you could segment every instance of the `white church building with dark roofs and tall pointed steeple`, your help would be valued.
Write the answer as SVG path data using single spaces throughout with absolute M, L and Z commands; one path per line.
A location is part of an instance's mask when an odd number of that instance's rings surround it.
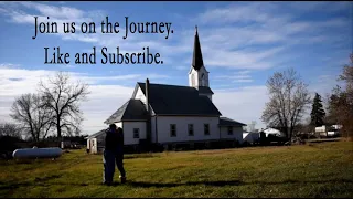
M 214 93 L 208 75 L 196 28 L 189 86 L 154 84 L 148 78 L 145 83 L 138 82 L 131 98 L 105 124 L 114 123 L 124 129 L 125 145 L 243 143 L 245 124 L 221 117 L 212 102 Z

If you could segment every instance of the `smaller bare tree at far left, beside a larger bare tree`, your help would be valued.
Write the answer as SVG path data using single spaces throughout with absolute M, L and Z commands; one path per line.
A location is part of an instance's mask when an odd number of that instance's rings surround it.
M 21 125 L 22 133 L 34 142 L 44 139 L 52 125 L 52 111 L 41 106 L 42 100 L 36 94 L 23 94 L 15 98 L 10 114 Z

